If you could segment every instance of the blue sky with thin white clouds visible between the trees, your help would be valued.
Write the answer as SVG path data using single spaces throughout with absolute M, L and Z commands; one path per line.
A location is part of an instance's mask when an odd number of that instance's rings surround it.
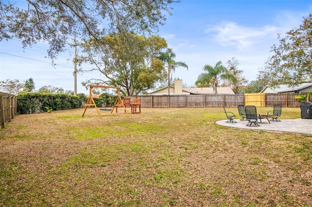
M 221 60 L 227 66 L 233 57 L 243 76 L 255 80 L 272 55 L 271 47 L 278 44 L 277 34 L 298 28 L 312 11 L 311 0 L 181 0 L 172 6 L 173 15 L 159 27 L 158 35 L 176 53 L 176 61 L 188 65 L 188 70 L 178 68 L 173 74 L 187 86 L 194 86 L 206 64 L 214 66 Z M 32 77 L 36 89 L 51 85 L 74 90 L 74 48 L 61 53 L 55 67 L 45 63 L 51 62 L 45 58 L 46 49 L 45 43 L 22 49 L 16 39 L 0 42 L 0 81 Z M 100 77 L 78 74 L 77 92 L 88 93 L 81 82 Z

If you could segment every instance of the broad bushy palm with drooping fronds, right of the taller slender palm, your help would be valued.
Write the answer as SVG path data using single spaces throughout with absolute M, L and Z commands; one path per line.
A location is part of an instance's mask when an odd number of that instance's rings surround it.
M 213 85 L 215 94 L 218 93 L 217 86 L 219 85 L 220 80 L 228 80 L 232 83 L 236 82 L 236 77 L 228 72 L 228 69 L 222 65 L 221 60 L 215 64 L 215 67 L 205 65 L 203 70 L 206 72 L 203 72 L 198 76 L 195 84 L 200 85 L 209 82 Z

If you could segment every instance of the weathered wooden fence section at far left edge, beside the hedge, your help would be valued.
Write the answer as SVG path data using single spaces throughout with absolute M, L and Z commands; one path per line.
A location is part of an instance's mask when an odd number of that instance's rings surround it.
M 17 97 L 0 92 L 0 128 L 4 128 L 4 124 L 14 118 L 17 112 Z

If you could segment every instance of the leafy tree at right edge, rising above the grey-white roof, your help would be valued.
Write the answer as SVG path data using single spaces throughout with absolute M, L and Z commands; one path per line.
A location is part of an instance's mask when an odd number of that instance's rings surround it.
M 271 77 L 271 86 L 298 85 L 312 81 L 312 15 L 303 18 L 299 28 L 290 30 L 284 37 L 278 35 L 279 45 L 273 45 L 273 55 L 261 77 Z

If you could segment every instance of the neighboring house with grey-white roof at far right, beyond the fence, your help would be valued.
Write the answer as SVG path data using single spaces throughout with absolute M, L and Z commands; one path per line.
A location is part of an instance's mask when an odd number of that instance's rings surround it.
M 288 85 L 279 85 L 276 88 L 265 86 L 260 93 L 308 93 L 310 91 L 312 91 L 312 83 L 303 83 L 292 87 Z

